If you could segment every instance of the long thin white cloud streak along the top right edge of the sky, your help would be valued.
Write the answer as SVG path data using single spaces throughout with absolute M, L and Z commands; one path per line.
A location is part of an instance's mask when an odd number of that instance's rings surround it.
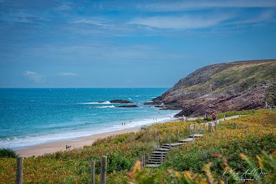
M 206 8 L 272 8 L 276 7 L 275 0 L 232 0 L 232 1 L 174 1 L 166 3 L 151 3 L 137 8 L 148 11 L 181 11 Z

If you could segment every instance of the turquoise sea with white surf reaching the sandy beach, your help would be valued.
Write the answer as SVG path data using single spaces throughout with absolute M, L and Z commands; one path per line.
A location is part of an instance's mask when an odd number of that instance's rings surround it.
M 167 88 L 0 89 L 0 147 L 19 149 L 170 119 L 177 111 L 144 102 Z M 116 108 L 112 99 L 138 108 Z M 104 103 L 97 103 L 104 101 Z M 122 126 L 121 123 L 126 123 Z

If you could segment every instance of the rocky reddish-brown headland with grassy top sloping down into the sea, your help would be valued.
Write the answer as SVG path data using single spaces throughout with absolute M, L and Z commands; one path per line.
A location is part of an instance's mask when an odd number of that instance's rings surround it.
M 177 116 L 251 110 L 275 105 L 276 60 L 237 61 L 200 68 L 152 104 L 182 110 Z

